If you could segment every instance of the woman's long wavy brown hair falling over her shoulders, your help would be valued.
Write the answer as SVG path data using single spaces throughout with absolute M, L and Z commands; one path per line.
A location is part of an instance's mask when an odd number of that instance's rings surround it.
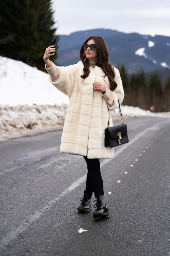
M 117 88 L 117 83 L 115 82 L 115 72 L 113 65 L 109 63 L 109 54 L 108 54 L 108 47 L 106 45 L 106 42 L 104 38 L 101 36 L 89 36 L 84 43 L 87 43 L 88 40 L 93 39 L 95 43 L 97 44 L 97 61 L 95 65 L 97 67 L 101 67 L 103 72 L 105 73 L 105 76 L 108 77 L 109 83 L 110 83 L 110 90 L 114 91 Z M 84 65 L 84 74 L 81 76 L 83 79 L 88 77 L 90 70 L 89 70 L 89 63 L 88 58 L 86 58 L 86 55 L 84 53 L 83 48 L 81 47 L 79 56 L 82 60 L 82 63 Z M 104 76 L 104 78 L 105 78 Z

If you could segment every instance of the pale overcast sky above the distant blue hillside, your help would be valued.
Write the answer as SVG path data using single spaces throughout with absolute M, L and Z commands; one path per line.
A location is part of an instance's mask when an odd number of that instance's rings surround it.
M 57 34 L 106 28 L 170 36 L 170 0 L 53 0 Z

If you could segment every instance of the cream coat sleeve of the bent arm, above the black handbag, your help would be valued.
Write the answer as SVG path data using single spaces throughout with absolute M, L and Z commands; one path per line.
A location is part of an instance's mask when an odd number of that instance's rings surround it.
M 124 89 L 123 89 L 119 70 L 114 67 L 114 71 L 115 71 L 115 81 L 117 83 L 117 88 L 114 91 L 112 91 L 106 87 L 105 94 L 102 94 L 102 96 L 107 102 L 108 109 L 111 111 L 118 108 L 119 103 L 121 104 L 124 99 Z M 119 103 L 118 103 L 118 100 L 119 100 Z

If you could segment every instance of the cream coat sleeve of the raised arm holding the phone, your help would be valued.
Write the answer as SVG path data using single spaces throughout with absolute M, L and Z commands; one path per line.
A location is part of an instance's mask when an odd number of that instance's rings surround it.
M 77 64 L 58 67 L 52 62 L 50 68 L 47 68 L 46 65 L 45 68 L 49 73 L 50 82 L 70 98 L 75 83 Z

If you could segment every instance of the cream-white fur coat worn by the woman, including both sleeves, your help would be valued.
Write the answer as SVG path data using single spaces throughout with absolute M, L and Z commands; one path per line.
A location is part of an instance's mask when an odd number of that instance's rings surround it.
M 60 151 L 93 158 L 112 158 L 113 148 L 104 146 L 104 130 L 108 124 L 108 108 L 118 108 L 118 101 L 124 99 L 124 90 L 119 71 L 114 67 L 115 91 L 109 89 L 109 81 L 100 67 L 90 67 L 90 74 L 82 79 L 83 63 L 79 61 L 68 67 L 47 68 L 51 83 L 68 95 L 68 105 Z M 100 82 L 106 87 L 106 93 L 93 90 L 93 83 Z M 110 126 L 113 126 L 110 120 Z

